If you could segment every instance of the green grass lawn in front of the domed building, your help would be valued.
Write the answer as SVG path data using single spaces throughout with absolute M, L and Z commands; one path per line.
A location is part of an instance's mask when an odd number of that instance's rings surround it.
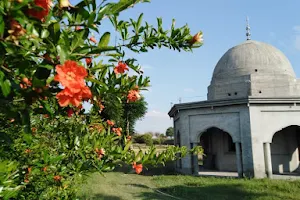
M 111 172 L 105 173 L 105 177 L 93 174 L 82 186 L 80 194 L 83 199 L 89 200 L 300 200 L 300 181 L 143 176 Z

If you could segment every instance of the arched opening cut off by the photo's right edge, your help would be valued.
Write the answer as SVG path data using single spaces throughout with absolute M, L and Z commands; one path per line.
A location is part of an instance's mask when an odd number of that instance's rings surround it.
M 273 135 L 273 174 L 300 175 L 300 127 L 288 126 Z

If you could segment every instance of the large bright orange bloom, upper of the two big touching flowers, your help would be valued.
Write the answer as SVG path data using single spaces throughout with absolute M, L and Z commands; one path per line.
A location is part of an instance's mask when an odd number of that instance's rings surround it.
M 75 61 L 67 60 L 63 65 L 57 65 L 55 69 L 57 74 L 54 80 L 69 88 L 72 93 L 79 92 L 85 86 L 84 78 L 88 75 L 87 71 Z

